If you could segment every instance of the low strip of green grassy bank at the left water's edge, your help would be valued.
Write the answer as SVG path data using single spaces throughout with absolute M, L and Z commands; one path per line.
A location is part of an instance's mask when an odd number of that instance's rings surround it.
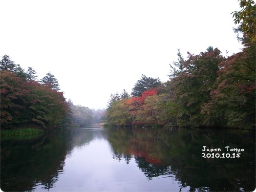
M 23 128 L 16 130 L 1 130 L 1 139 L 29 139 L 39 136 L 44 133 L 44 130 L 34 128 Z

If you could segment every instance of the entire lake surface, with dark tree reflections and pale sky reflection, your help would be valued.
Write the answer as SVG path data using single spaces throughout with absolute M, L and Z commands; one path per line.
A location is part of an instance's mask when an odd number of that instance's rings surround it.
M 221 152 L 204 152 L 203 146 Z M 230 151 L 233 148 L 244 151 Z M 63 130 L 30 140 L 2 140 L 1 189 L 253 191 L 255 134 L 92 128 Z

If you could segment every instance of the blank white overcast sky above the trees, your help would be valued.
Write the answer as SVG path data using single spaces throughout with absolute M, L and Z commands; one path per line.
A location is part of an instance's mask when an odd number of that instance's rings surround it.
M 0 56 L 41 79 L 51 72 L 74 104 L 102 109 L 131 93 L 141 75 L 168 80 L 179 48 L 223 55 L 242 48 L 232 27 L 236 0 L 1 1 Z

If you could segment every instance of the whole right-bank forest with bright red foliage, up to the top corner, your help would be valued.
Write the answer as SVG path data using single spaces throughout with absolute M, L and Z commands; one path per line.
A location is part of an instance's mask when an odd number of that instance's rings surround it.
M 200 54 L 178 49 L 169 80 L 142 75 L 131 96 L 112 94 L 105 121 L 114 126 L 255 127 L 255 3 L 240 1 L 231 13 L 241 52 L 225 57 L 218 48 Z

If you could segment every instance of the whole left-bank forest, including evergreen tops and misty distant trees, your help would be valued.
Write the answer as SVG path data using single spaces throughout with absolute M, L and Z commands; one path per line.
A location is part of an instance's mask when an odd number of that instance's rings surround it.
M 104 110 L 91 110 L 66 101 L 58 80 L 50 72 L 38 80 L 35 70 L 25 72 L 4 55 L 0 61 L 1 127 L 37 127 L 45 130 L 100 123 Z M 99 117 L 100 116 L 100 117 Z

